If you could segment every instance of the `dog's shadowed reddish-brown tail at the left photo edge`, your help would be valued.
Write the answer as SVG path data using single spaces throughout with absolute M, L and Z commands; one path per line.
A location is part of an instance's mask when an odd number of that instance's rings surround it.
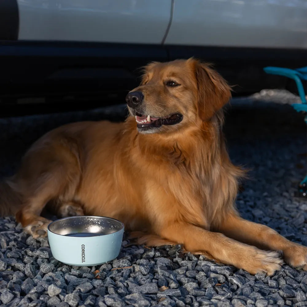
M 9 181 L 0 182 L 0 216 L 15 215 L 21 206 L 21 195 Z

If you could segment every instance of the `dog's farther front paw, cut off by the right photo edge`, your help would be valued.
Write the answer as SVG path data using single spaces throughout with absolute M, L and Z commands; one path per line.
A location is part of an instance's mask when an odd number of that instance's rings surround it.
M 294 268 L 302 268 L 307 271 L 307 247 L 291 243 L 283 250 L 285 262 Z

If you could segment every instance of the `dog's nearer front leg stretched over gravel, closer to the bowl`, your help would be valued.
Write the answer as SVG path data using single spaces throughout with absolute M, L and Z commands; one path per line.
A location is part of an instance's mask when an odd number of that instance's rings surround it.
M 168 225 L 159 231 L 159 235 L 171 242 L 183 244 L 192 253 L 204 252 L 205 255 L 212 255 L 220 262 L 242 268 L 251 274 L 265 271 L 272 275 L 281 267 L 282 260 L 276 252 L 262 251 L 187 222 Z

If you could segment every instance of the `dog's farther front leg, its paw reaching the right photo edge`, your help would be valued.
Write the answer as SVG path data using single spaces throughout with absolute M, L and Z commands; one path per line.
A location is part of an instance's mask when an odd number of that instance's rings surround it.
M 289 241 L 270 227 L 244 220 L 233 212 L 216 225 L 216 230 L 247 244 L 282 251 L 288 264 L 307 270 L 307 247 Z

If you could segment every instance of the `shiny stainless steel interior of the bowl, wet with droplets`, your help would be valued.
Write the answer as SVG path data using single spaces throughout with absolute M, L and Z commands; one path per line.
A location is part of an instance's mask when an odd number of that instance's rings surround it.
M 103 216 L 72 216 L 56 220 L 49 224 L 48 229 L 58 235 L 86 237 L 109 235 L 124 227 L 118 220 Z

